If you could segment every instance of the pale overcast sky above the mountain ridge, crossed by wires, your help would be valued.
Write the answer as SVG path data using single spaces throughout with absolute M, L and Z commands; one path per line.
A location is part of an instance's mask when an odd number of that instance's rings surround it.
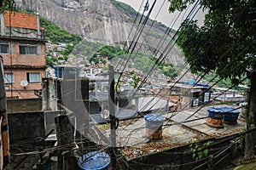
M 140 8 L 141 3 L 146 2 L 146 0 L 144 0 L 144 1 L 143 0 L 118 0 L 118 1 L 131 5 L 131 7 L 137 11 Z M 149 5 L 150 5 L 149 8 L 153 4 L 153 2 L 154 2 L 154 0 L 149 0 Z M 163 7 L 161 8 L 162 4 L 163 4 Z M 169 5 L 170 5 L 170 3 L 167 0 L 158 0 L 157 3 L 155 3 L 155 7 L 154 7 L 154 10 L 152 11 L 152 14 L 150 15 L 150 18 L 155 19 L 156 14 L 160 11 L 160 14 L 158 15 L 156 20 L 162 22 L 166 26 L 171 26 L 173 19 L 176 17 L 177 13 L 170 14 L 168 11 Z M 143 4 L 143 6 L 144 6 L 144 4 Z M 192 8 L 192 5 L 190 8 Z M 141 9 L 140 13 L 143 13 L 143 8 Z M 184 16 L 186 17 L 187 14 L 185 14 Z M 196 19 L 201 20 L 201 22 L 202 22 L 202 19 L 201 19 L 202 16 L 203 16 L 203 14 L 199 13 L 199 14 L 197 14 Z M 182 17 L 183 17 L 183 14 L 181 14 L 180 20 L 178 20 L 172 28 L 177 30 L 177 28 L 180 26 Z

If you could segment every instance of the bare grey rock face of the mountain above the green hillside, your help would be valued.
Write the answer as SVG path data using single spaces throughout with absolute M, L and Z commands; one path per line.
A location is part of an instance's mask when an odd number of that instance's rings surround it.
M 134 14 L 125 14 L 124 10 L 113 5 L 111 0 L 22 0 L 19 2 L 17 1 L 17 4 L 22 8 L 38 11 L 41 16 L 51 20 L 65 31 L 84 37 L 90 42 L 101 42 L 118 47 L 125 44 L 132 27 L 131 17 L 134 16 Z M 165 45 L 159 47 L 158 44 L 165 29 L 153 26 L 148 32 L 149 26 L 150 22 L 138 40 L 137 51 L 143 54 L 151 54 L 155 48 L 160 52 L 163 51 Z M 137 26 L 134 26 L 130 42 L 136 30 Z M 146 34 L 148 34 L 147 37 L 145 37 Z M 167 41 L 164 44 L 167 44 Z M 172 48 L 167 60 L 174 65 L 183 64 L 181 56 L 177 48 Z

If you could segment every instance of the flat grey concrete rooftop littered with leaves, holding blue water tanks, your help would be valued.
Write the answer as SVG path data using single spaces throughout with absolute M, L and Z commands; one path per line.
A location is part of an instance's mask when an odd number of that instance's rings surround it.
M 192 142 L 192 139 L 223 138 L 245 129 L 245 121 L 241 114 L 236 125 L 224 124 L 223 128 L 208 126 L 206 118 L 208 116 L 208 106 L 223 107 L 230 105 L 207 105 L 202 107 L 200 111 L 197 111 L 200 108 L 199 106 L 186 111 L 161 113 L 159 115 L 169 118 L 163 125 L 163 138 L 151 141 L 148 144 L 146 144 L 146 126 L 143 117 L 120 121 L 119 127 L 116 130 L 117 147 L 124 147 L 123 151 L 129 159 L 133 158 L 132 152 L 137 149 L 143 150 L 144 155 L 189 144 Z M 236 107 L 234 106 L 234 108 Z M 197 112 L 195 113 L 195 111 Z M 185 122 L 189 120 L 192 121 Z M 111 141 L 109 126 L 102 127 L 102 125 L 99 125 L 98 127 L 102 133 L 106 134 L 108 140 Z

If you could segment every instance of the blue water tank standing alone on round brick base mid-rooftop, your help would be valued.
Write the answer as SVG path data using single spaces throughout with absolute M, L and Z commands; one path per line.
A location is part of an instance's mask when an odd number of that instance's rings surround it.
M 166 117 L 156 115 L 156 114 L 147 114 L 144 116 L 146 127 L 149 129 L 157 130 L 161 129 Z

